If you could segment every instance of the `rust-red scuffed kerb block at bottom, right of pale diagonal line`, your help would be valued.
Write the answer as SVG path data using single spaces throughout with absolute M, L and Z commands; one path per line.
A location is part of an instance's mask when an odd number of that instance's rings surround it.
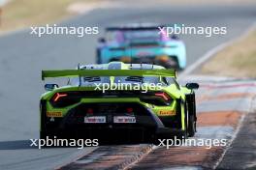
M 223 149 L 205 147 L 173 147 L 167 150 L 159 148 L 135 166 L 133 170 L 157 169 L 202 169 L 212 167 L 215 159 L 222 154 Z

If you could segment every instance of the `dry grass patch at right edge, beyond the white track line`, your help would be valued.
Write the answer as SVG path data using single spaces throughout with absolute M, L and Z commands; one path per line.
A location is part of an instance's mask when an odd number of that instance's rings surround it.
M 200 73 L 256 78 L 256 30 L 218 52 L 202 66 Z

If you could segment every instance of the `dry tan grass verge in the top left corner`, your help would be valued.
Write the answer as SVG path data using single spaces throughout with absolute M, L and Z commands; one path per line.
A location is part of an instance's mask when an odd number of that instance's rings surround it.
M 52 23 L 71 16 L 67 8 L 72 3 L 93 0 L 12 0 L 3 7 L 0 32 Z

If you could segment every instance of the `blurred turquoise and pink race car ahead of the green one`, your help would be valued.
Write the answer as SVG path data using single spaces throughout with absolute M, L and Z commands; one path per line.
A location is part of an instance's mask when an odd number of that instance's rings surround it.
M 186 48 L 176 35 L 160 32 L 157 24 L 130 24 L 106 28 L 106 38 L 99 39 L 97 63 L 112 61 L 147 63 L 167 69 L 186 67 Z

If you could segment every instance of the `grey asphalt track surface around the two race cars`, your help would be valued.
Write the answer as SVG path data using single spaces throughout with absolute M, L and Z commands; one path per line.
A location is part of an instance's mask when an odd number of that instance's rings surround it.
M 130 22 L 184 23 L 191 26 L 227 26 L 226 36 L 182 36 L 187 45 L 188 65 L 209 49 L 239 36 L 256 18 L 254 6 L 172 7 L 132 5 L 95 10 L 62 25 L 99 26 Z M 102 36 L 102 31 L 101 35 Z M 99 36 L 31 36 L 29 30 L 0 38 L 0 169 L 51 169 L 97 148 L 38 150 L 29 147 L 39 137 L 39 98 L 44 93 L 41 71 L 75 68 L 94 63 Z

